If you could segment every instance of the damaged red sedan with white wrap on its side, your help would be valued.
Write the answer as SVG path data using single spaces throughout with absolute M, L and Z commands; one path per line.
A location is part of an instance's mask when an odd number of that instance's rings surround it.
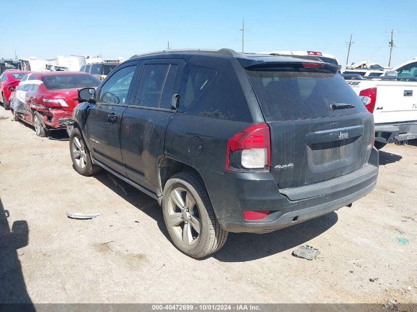
M 30 73 L 10 97 L 14 120 L 33 125 L 39 137 L 46 137 L 53 129 L 65 129 L 78 104 L 78 90 L 99 84 L 93 75 L 79 71 Z

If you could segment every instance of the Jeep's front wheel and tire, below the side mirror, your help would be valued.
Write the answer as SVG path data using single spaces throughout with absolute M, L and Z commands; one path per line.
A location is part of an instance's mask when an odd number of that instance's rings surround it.
M 100 166 L 94 165 L 91 161 L 90 151 L 77 128 L 71 133 L 70 154 L 73 167 L 77 173 L 88 176 L 98 173 L 101 170 Z

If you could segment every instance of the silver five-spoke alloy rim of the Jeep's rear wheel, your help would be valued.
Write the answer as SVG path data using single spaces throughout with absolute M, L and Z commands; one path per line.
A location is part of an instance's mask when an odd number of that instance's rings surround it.
M 169 223 L 177 238 L 186 245 L 197 242 L 200 235 L 200 214 L 191 193 L 183 187 L 172 190 L 168 200 Z

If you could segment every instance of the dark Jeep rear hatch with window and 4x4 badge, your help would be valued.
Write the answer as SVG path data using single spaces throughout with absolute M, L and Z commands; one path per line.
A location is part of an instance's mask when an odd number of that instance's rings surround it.
M 337 68 L 321 63 L 247 67 L 271 136 L 279 188 L 321 182 L 367 164 L 373 117 Z

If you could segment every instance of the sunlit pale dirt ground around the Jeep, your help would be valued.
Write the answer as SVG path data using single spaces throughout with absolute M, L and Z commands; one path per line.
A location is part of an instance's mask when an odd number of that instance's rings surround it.
M 416 140 L 380 151 L 376 189 L 351 208 L 230 233 L 202 260 L 172 245 L 155 200 L 124 196 L 107 173 L 79 175 L 68 141 L 37 137 L 3 108 L 0 162 L 0 302 L 417 302 Z M 303 244 L 320 255 L 292 256 Z

